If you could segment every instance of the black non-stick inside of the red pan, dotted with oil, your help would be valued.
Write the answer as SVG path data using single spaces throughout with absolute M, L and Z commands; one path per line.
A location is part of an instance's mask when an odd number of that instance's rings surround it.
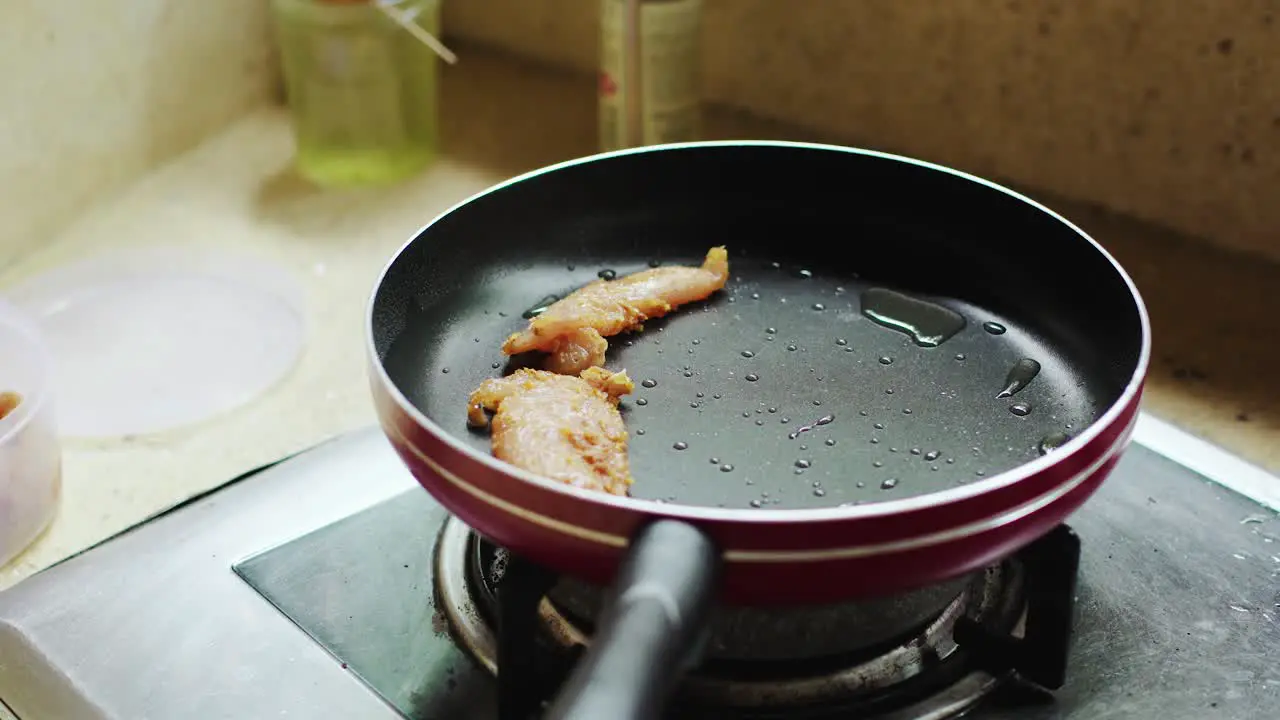
M 636 382 L 622 404 L 635 497 L 820 507 L 925 495 L 1037 457 L 1132 377 L 1130 288 L 1015 196 L 803 146 L 659 155 L 525 179 L 406 249 L 375 300 L 374 341 L 408 400 L 488 452 L 466 398 L 509 372 L 499 345 L 530 311 L 596 277 L 699 264 L 713 245 L 730 250 L 722 292 L 611 338 L 608 368 Z M 777 174 L 788 182 L 769 187 L 783 190 L 762 196 Z M 868 291 L 883 288 L 964 327 L 922 346 L 867 315 Z M 900 319 L 913 318 L 933 322 Z M 997 397 L 1028 361 L 1034 378 Z

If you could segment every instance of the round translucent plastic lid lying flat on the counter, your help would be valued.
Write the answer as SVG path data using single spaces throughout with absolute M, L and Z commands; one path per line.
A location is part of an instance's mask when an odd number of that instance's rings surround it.
M 10 297 L 50 348 L 68 436 L 154 433 L 232 410 L 285 375 L 306 338 L 289 274 L 227 252 L 106 254 Z

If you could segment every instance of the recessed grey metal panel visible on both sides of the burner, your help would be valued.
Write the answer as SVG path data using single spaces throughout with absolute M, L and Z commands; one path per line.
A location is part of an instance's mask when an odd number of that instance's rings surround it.
M 242 574 L 407 717 L 492 719 L 492 678 L 452 644 L 442 651 L 425 628 L 430 579 L 403 568 L 429 559 L 443 518 L 429 496 L 410 492 L 257 556 Z M 1280 670 L 1262 660 L 1280 657 L 1280 542 L 1267 534 L 1280 534 L 1280 523 L 1134 446 L 1073 527 L 1084 557 L 1068 685 L 1050 705 L 1000 707 L 1007 698 L 996 698 L 974 717 L 1261 717 L 1280 702 Z M 419 657 L 408 675 L 388 667 L 412 665 L 387 656 L 404 652 Z

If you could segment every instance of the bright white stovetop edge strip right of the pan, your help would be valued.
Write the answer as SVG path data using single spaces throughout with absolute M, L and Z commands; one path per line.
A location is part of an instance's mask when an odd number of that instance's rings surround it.
M 1280 512 L 1280 477 L 1151 415 L 1138 414 L 1133 441 L 1158 455 Z

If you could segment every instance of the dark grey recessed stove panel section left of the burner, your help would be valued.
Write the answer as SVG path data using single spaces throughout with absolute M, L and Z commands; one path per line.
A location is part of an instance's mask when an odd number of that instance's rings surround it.
M 408 717 L 493 717 L 488 675 L 433 600 L 448 514 L 420 489 L 241 562 L 236 571 Z

